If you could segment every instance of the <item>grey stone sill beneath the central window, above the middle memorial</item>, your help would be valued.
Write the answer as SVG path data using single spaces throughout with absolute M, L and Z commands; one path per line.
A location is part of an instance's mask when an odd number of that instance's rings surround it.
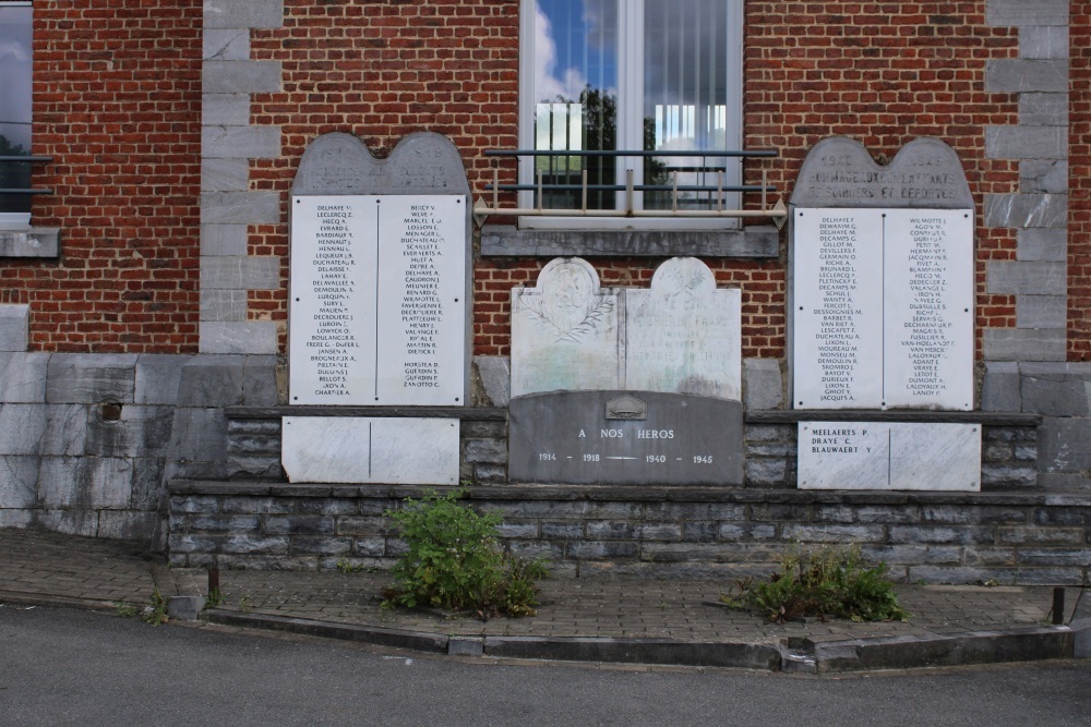
M 776 258 L 780 230 L 771 225 L 738 230 L 520 230 L 488 225 L 481 229 L 481 255 Z

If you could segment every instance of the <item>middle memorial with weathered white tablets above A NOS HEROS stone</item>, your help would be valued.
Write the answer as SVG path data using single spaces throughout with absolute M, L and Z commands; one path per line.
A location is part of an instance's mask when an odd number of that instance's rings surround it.
M 512 291 L 511 480 L 741 484 L 740 313 L 696 258 L 648 290 L 551 260 Z

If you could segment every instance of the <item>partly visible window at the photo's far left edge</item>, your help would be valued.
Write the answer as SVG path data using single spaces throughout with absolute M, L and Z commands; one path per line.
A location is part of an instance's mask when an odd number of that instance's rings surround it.
M 31 154 L 31 3 L 0 2 L 0 158 Z M 0 190 L 31 189 L 28 162 L 0 161 Z M 29 227 L 31 195 L 0 193 L 0 229 Z

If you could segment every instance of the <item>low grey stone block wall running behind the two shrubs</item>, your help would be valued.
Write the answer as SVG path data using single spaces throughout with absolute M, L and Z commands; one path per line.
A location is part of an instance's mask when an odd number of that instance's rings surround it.
M 1087 585 L 1091 495 L 839 493 L 746 488 L 469 487 L 507 546 L 568 575 L 763 574 L 795 543 L 859 543 L 895 579 Z M 404 552 L 383 513 L 419 487 L 170 483 L 171 562 L 388 567 Z

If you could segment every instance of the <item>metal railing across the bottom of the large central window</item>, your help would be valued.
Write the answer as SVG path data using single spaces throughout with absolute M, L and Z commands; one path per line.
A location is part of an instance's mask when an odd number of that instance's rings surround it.
M 624 184 L 609 184 L 609 183 L 589 183 L 588 181 L 588 169 L 586 166 L 580 163 L 580 169 L 578 170 L 580 175 L 580 181 L 578 184 L 570 182 L 555 182 L 546 181 L 547 174 L 552 178 L 558 177 L 572 177 L 574 172 L 570 168 L 558 169 L 553 163 L 555 159 L 567 158 L 583 160 L 585 158 L 591 159 L 614 159 L 618 157 L 636 157 L 636 158 L 685 158 L 685 157 L 697 157 L 703 159 L 727 159 L 727 158 L 738 158 L 738 159 L 748 159 L 748 158 L 769 158 L 776 157 L 777 152 L 775 150 L 568 150 L 568 149 L 487 149 L 484 155 L 488 157 L 533 157 L 537 160 L 539 158 L 549 159 L 550 168 L 549 170 L 537 169 L 536 180 L 533 184 L 501 184 L 500 183 L 500 170 L 493 168 L 493 181 L 491 184 L 485 185 L 487 192 L 492 192 L 492 204 L 488 204 L 484 197 L 478 197 L 477 203 L 473 206 L 473 214 L 478 219 L 478 223 L 483 223 L 483 220 L 490 215 L 506 215 L 506 216 L 540 216 L 540 217 L 703 217 L 703 218 L 744 218 L 744 217 L 768 217 L 772 218 L 774 222 L 779 227 L 784 223 L 788 217 L 788 208 L 784 206 L 783 202 L 778 197 L 776 204 L 769 204 L 769 195 L 776 193 L 776 187 L 769 185 L 768 183 L 768 171 L 762 170 L 762 183 L 760 184 L 726 184 L 724 183 L 724 170 L 722 165 L 709 166 L 707 162 L 694 167 L 681 167 L 681 168 L 667 168 L 664 167 L 661 171 L 669 174 L 671 180 L 670 184 L 637 184 L 635 182 L 636 174 L 634 170 L 625 170 L 625 183 Z M 716 184 L 690 184 L 680 183 L 679 174 L 716 174 Z M 532 207 L 501 207 L 500 205 L 500 193 L 501 192 L 535 192 L 536 204 Z M 546 195 L 548 193 L 558 192 L 579 192 L 580 204 L 578 207 L 547 207 L 546 206 Z M 614 205 L 613 208 L 595 208 L 588 206 L 588 195 L 591 193 L 624 193 L 624 204 Z M 669 193 L 670 194 L 670 208 L 669 209 L 650 209 L 637 208 L 636 205 L 636 193 Z M 760 206 L 757 209 L 726 209 L 724 208 L 724 195 L 728 193 L 758 193 L 762 195 Z M 679 205 L 679 194 L 690 193 L 690 194 L 708 194 L 715 195 L 710 196 L 706 203 L 715 201 L 714 204 L 709 204 L 706 209 L 680 209 Z M 685 201 L 686 204 L 692 204 L 692 199 Z M 685 205 L 683 205 L 685 206 Z

